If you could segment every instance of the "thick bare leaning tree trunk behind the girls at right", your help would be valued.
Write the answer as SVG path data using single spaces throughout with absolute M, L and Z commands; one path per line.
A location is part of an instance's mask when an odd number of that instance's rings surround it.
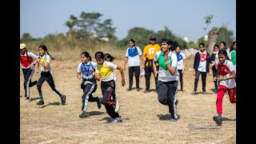
M 210 36 L 208 38 L 208 47 L 206 48 L 206 51 L 211 55 L 214 51 L 214 45 L 217 42 L 218 38 L 218 27 L 213 27 L 210 31 Z

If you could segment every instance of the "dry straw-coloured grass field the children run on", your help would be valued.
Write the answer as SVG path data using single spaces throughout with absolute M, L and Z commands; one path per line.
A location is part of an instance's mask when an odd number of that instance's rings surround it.
M 46 82 L 42 85 L 44 106 L 36 105 L 39 101 L 36 86 L 30 88 L 32 101 L 24 102 L 21 71 L 21 143 L 236 143 L 236 105 L 229 102 L 227 95 L 223 99 L 223 116 L 226 121 L 220 128 L 190 129 L 190 126 L 216 126 L 212 119 L 216 114 L 212 75 L 207 75 L 206 96 L 190 94 L 194 88 L 194 76 L 189 70 L 192 68 L 192 58 L 187 61 L 184 74 L 185 91 L 179 91 L 177 95 L 180 119 L 176 123 L 168 121 L 168 108 L 158 102 L 158 95 L 154 91 L 143 93 L 145 78 L 140 78 L 141 91 L 126 91 L 128 72 L 125 71 L 126 86 L 122 87 L 118 70 L 119 114 L 123 122 L 109 123 L 111 118 L 106 114 L 105 107 L 98 110 L 95 102 L 89 102 L 88 112 L 91 116 L 79 118 L 82 106 L 81 79 L 76 78 L 79 62 L 80 59 L 62 62 L 56 60 L 50 63 L 58 89 L 67 96 L 65 106 L 60 105 L 60 98 Z M 123 61 L 114 60 L 114 63 L 122 66 Z M 34 74 L 32 80 L 38 78 L 39 74 Z M 153 90 L 153 77 L 150 82 L 150 89 Z M 199 81 L 198 92 L 201 90 L 202 82 Z M 99 83 L 94 96 L 101 96 Z

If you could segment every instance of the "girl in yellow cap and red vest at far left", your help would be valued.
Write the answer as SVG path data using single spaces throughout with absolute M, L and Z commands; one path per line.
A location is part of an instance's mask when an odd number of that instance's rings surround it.
M 33 54 L 32 52 L 28 52 L 26 50 L 26 44 L 21 43 L 20 47 L 20 62 L 22 66 L 22 72 L 24 76 L 24 90 L 25 90 L 25 102 L 30 102 L 30 87 L 37 84 L 37 81 L 31 82 L 31 78 L 34 74 L 34 66 L 35 66 L 35 60 L 37 59 L 37 56 Z

